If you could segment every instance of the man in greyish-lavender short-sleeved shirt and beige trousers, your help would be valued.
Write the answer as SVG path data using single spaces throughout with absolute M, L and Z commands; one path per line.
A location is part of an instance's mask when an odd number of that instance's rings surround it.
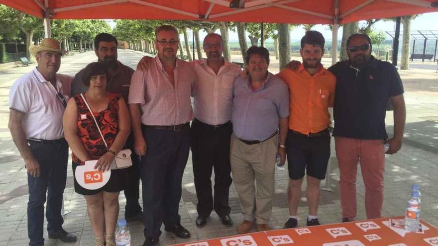
M 287 85 L 268 72 L 269 52 L 252 46 L 246 52 L 249 76 L 234 81 L 231 136 L 231 172 L 243 210 L 240 234 L 254 221 L 257 231 L 268 231 L 274 195 L 277 154 L 285 163 L 289 92 Z M 256 187 L 254 186 L 256 181 Z

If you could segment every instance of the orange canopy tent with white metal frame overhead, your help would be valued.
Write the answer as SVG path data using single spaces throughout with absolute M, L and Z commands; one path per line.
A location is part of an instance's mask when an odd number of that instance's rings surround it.
M 44 18 L 46 37 L 50 37 L 50 19 L 171 19 L 333 24 L 336 40 L 339 23 L 438 11 L 438 0 L 0 0 L 0 3 Z M 336 42 L 332 43 L 335 51 Z

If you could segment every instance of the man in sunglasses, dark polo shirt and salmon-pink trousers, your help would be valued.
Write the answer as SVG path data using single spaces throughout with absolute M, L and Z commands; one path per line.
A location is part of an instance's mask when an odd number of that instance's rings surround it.
M 329 68 L 336 76 L 334 133 L 339 163 L 342 222 L 356 216 L 356 173 L 360 161 L 368 219 L 381 217 L 386 154 L 402 146 L 406 120 L 403 85 L 396 68 L 371 56 L 371 40 L 353 34 L 347 41 L 348 60 Z M 394 106 L 394 136 L 385 130 L 386 103 Z

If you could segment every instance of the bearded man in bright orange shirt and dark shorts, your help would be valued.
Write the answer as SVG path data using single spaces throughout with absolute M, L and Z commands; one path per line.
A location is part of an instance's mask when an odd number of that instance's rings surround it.
M 285 228 L 298 225 L 297 209 L 301 185 L 307 170 L 306 197 L 309 206 L 307 226 L 320 225 L 318 204 L 320 182 L 326 176 L 330 157 L 330 114 L 336 77 L 321 64 L 325 39 L 320 32 L 308 31 L 301 39 L 303 63 L 297 71 L 282 70 L 278 76 L 290 93 L 289 132 L 286 154 L 289 169 L 289 220 Z

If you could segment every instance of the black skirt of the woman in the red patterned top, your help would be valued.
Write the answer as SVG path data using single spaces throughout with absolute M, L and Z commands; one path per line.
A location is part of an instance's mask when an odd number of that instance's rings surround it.
M 76 167 L 78 164 L 72 162 L 73 167 L 73 177 L 75 176 Z M 101 191 L 106 192 L 119 192 L 125 189 L 126 183 L 128 182 L 128 168 L 111 170 L 111 176 L 109 177 L 108 183 L 104 185 L 104 187 L 97 190 L 89 190 L 82 187 L 78 181 L 76 181 L 76 177 L 73 178 L 75 182 L 75 191 L 78 194 L 89 196 L 96 195 Z

